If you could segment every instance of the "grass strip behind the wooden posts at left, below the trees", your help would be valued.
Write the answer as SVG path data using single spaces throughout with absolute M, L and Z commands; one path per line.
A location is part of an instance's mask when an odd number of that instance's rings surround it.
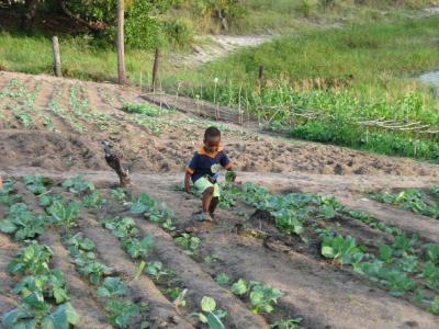
M 0 33 L 0 68 L 25 73 L 53 73 L 52 39 L 46 36 L 24 36 Z M 61 69 L 64 77 L 94 81 L 115 81 L 116 53 L 110 47 L 95 46 L 89 36 L 59 36 Z M 168 56 L 168 50 L 164 50 Z M 125 66 L 131 81 L 138 83 L 140 71 L 145 83 L 151 70 L 151 50 L 126 49 Z M 171 70 L 167 60 L 162 71 Z M 148 81 L 149 82 L 149 81 Z

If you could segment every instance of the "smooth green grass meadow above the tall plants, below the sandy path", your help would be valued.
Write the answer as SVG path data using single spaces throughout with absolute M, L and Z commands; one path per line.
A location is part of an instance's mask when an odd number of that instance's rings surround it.
M 435 16 L 313 30 L 240 50 L 204 66 L 192 78 L 196 81 L 218 77 L 255 83 L 259 66 L 263 65 L 268 80 L 282 77 L 306 88 L 309 79 L 323 79 L 328 87 L 337 87 L 337 79 L 363 92 L 371 88 L 384 90 L 392 88 L 395 79 L 438 68 L 438 27 L 439 18 Z

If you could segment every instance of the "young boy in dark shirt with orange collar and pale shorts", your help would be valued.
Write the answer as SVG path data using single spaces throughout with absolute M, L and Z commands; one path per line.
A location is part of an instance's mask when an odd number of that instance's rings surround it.
M 191 192 L 193 185 L 203 193 L 202 212 L 195 215 L 200 222 L 212 222 L 213 213 L 219 202 L 219 186 L 217 179 L 223 167 L 233 171 L 232 161 L 221 147 L 221 132 L 216 127 L 209 127 L 204 132 L 204 146 L 193 156 L 185 170 L 184 186 Z M 236 174 L 233 177 L 235 181 Z

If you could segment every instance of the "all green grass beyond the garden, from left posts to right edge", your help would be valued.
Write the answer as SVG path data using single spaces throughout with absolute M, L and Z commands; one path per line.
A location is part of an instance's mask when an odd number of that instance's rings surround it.
M 241 109 L 255 116 L 269 120 L 271 127 L 289 129 L 292 137 L 385 155 L 439 159 L 438 138 L 409 132 L 365 132 L 356 124 L 363 118 L 385 117 L 439 125 L 434 91 L 416 79 L 423 71 L 439 68 L 439 16 L 407 18 L 410 5 L 419 8 L 428 1 L 405 2 L 392 14 L 380 13 L 376 18 L 371 12 L 390 12 L 386 1 L 374 1 L 375 8 L 336 4 L 316 9 L 316 13 L 327 13 L 326 23 L 330 18 L 345 18 L 342 27 L 316 27 L 315 24 L 313 27 L 312 18 L 304 21 L 297 16 L 297 3 L 302 1 L 281 0 L 270 5 L 264 0 L 248 1 L 245 20 L 259 18 L 263 22 L 264 18 L 270 18 L 277 20 L 280 27 L 283 26 L 278 20 L 280 15 L 291 16 L 290 23 L 295 24 L 297 31 L 199 69 L 175 68 L 170 64 L 173 50 L 164 49 L 160 67 L 164 87 L 173 92 L 179 86 L 180 92 L 222 104 L 237 106 L 240 103 Z M 249 29 L 258 31 L 261 22 Z M 305 23 L 300 25 L 299 22 Z M 3 32 L 0 44 L 0 68 L 52 73 L 49 38 Z M 64 76 L 114 81 L 114 49 L 95 45 L 97 41 L 88 36 L 60 36 Z M 143 71 L 144 86 L 149 83 L 151 65 L 151 52 L 126 49 L 126 68 L 132 82 L 138 83 Z M 257 84 L 260 65 L 266 72 L 266 88 L 261 92 Z M 325 115 L 317 121 L 294 121 L 292 126 L 289 111 L 261 111 L 260 105 L 294 105 L 295 112 L 315 110 Z M 330 116 L 333 118 L 328 118 Z

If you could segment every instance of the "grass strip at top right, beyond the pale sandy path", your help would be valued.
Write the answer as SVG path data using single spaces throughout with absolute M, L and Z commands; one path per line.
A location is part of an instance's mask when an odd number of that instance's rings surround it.
M 335 0 L 247 0 L 246 15 L 236 24 L 235 33 L 283 33 L 301 31 L 304 25 L 380 21 L 407 15 L 413 10 L 432 7 L 434 1 Z

